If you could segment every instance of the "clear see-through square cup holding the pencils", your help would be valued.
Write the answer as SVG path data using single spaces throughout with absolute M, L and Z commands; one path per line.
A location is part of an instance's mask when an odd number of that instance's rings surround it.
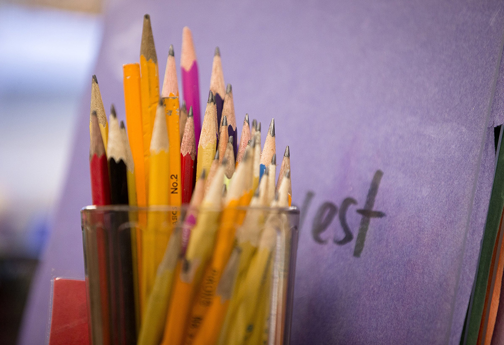
M 81 210 L 96 344 L 288 344 L 297 208 Z

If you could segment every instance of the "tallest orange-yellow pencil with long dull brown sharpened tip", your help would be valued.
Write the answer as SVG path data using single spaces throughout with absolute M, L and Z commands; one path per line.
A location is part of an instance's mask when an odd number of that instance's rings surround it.
M 159 75 L 156 48 L 152 36 L 151 19 L 144 16 L 142 28 L 142 41 L 140 44 L 140 93 L 142 105 L 142 134 L 144 140 L 144 169 L 146 186 L 149 185 L 149 155 L 151 146 L 152 128 L 156 117 L 156 108 L 159 101 Z M 147 190 L 147 200 L 149 187 Z

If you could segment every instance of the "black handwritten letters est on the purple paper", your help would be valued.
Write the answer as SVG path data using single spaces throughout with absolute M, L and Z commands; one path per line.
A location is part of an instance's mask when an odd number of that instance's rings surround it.
M 369 223 L 371 218 L 382 218 L 385 217 L 385 213 L 380 211 L 374 211 L 374 200 L 376 198 L 376 194 L 378 193 L 378 187 L 380 186 L 380 181 L 382 180 L 383 171 L 377 170 L 374 173 L 373 179 L 371 181 L 371 186 L 369 187 L 369 191 L 367 192 L 366 202 L 364 203 L 363 209 L 357 209 L 356 212 L 362 216 L 360 220 L 359 230 L 357 232 L 357 239 L 355 241 L 355 249 L 353 251 L 353 256 L 360 257 L 362 253 L 362 249 L 364 249 L 364 242 L 366 240 L 367 230 L 369 228 Z M 311 199 L 315 193 L 313 191 L 308 191 L 306 196 L 304 197 L 303 205 L 301 206 L 301 215 L 299 224 L 302 227 L 304 223 L 304 217 L 306 212 L 308 212 L 309 206 L 311 204 Z M 339 221 L 341 224 L 341 228 L 345 236 L 341 240 L 333 239 L 333 242 L 337 245 L 344 245 L 353 240 L 353 234 L 348 226 L 346 221 L 347 211 L 350 205 L 357 205 L 357 200 L 353 197 L 346 197 L 341 203 L 339 209 Z M 332 223 L 334 217 L 338 213 L 338 207 L 332 203 L 331 201 L 325 201 L 319 206 L 315 217 L 313 218 L 313 223 L 311 227 L 311 236 L 313 240 L 320 244 L 326 244 L 327 239 L 324 240 L 321 238 L 323 232 L 327 230 L 329 225 Z

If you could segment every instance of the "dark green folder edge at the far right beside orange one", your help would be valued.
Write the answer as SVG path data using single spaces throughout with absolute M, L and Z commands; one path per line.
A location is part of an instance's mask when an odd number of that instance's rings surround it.
M 504 209 L 504 148 L 502 147 L 502 132 L 504 125 L 500 128 L 499 142 L 497 145 L 495 164 L 495 175 L 493 177 L 492 193 L 488 205 L 488 214 L 486 216 L 485 232 L 481 243 L 480 257 L 474 291 L 469 302 L 468 316 L 462 330 L 460 339 L 461 344 L 476 345 L 478 334 L 483 317 L 483 308 L 485 304 L 486 289 L 488 286 L 488 276 L 492 261 L 493 248 L 497 240 L 497 232 L 500 225 L 500 217 Z M 499 178 L 500 177 L 500 178 Z M 498 248 L 498 251 L 500 248 Z M 498 254 L 498 253 L 497 253 Z M 498 256 L 496 257 L 496 262 Z M 502 277 L 496 279 L 502 279 Z M 503 287 L 504 288 L 504 287 Z M 485 324 L 486 327 L 486 324 Z

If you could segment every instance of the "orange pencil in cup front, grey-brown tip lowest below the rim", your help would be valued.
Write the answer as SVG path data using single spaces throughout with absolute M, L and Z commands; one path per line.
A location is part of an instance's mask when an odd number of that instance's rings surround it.
M 208 317 L 202 321 L 193 345 L 211 345 L 217 342 L 236 282 L 239 257 L 240 249 L 234 247 L 208 308 Z

